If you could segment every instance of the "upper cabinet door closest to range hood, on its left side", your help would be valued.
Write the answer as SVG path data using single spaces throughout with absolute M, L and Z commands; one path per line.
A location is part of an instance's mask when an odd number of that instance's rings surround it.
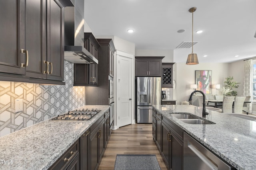
M 64 80 L 64 8 L 55 0 L 47 1 L 47 61 L 50 80 Z

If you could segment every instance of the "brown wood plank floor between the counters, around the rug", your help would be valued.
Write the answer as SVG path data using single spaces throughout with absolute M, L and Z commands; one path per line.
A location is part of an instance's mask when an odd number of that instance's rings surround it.
M 167 170 L 152 137 L 152 124 L 133 124 L 113 130 L 98 170 L 113 170 L 116 154 L 156 154 L 162 170 Z

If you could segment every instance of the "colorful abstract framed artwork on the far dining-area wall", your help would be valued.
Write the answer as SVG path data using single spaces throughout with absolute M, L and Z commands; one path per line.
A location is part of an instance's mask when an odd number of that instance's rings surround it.
M 196 70 L 196 90 L 212 94 L 212 70 Z

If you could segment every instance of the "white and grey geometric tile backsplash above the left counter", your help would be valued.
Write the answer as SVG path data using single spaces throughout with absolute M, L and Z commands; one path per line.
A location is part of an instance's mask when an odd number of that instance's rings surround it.
M 65 62 L 66 85 L 0 81 L 0 137 L 85 105 L 85 87 L 73 86 L 74 64 Z M 23 111 L 15 113 L 15 100 Z

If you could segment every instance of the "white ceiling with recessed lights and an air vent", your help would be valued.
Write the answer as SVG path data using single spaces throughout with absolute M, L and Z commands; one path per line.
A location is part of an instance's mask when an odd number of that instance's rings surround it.
M 256 0 L 85 0 L 85 20 L 95 36 L 117 36 L 136 49 L 174 50 L 174 62 L 186 62 L 192 41 L 199 63 L 231 63 L 256 57 Z M 126 30 L 132 28 L 134 33 Z M 184 33 L 177 33 L 185 29 Z M 208 55 L 208 57 L 203 57 Z M 239 57 L 234 57 L 239 55 Z

